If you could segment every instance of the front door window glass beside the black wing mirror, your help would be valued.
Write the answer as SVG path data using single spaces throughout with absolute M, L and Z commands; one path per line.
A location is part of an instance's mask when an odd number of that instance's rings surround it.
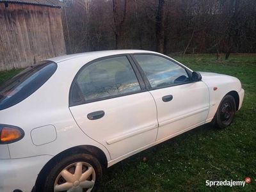
M 155 55 L 134 55 L 152 88 L 189 82 L 186 70 L 166 58 Z

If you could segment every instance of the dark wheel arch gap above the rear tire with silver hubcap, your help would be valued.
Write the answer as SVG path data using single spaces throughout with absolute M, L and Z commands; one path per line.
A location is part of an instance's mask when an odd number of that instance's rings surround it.
M 76 153 L 90 154 L 92 156 L 95 156 L 99 160 L 100 164 L 102 165 L 103 172 L 106 171 L 106 168 L 108 168 L 108 159 L 107 159 L 106 155 L 104 154 L 104 152 L 100 148 L 95 147 L 93 145 L 79 145 L 76 147 L 68 148 L 67 150 L 64 150 L 63 152 L 60 152 L 56 156 L 52 157 L 52 159 L 50 159 L 50 161 L 48 161 L 44 165 L 42 170 L 40 170 L 40 173 L 38 173 L 38 177 L 35 182 L 36 191 L 38 191 L 38 188 L 40 188 L 40 186 L 42 186 L 42 181 L 44 179 L 46 179 L 47 173 L 50 172 L 52 164 L 55 161 L 60 160 L 61 157 L 63 157 L 63 156 L 67 156 L 70 154 L 76 154 Z M 39 189 L 39 191 L 40 191 L 40 189 Z

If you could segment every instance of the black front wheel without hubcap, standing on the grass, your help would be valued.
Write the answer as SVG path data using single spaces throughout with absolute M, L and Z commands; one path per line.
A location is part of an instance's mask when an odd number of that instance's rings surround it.
M 236 101 L 232 95 L 226 95 L 220 102 L 220 106 L 214 117 L 214 124 L 224 129 L 232 124 L 236 113 Z

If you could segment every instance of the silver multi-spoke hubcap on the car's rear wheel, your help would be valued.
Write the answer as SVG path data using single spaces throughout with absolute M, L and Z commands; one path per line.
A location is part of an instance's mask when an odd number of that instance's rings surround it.
M 54 191 L 89 192 L 95 184 L 96 174 L 92 165 L 76 162 L 65 167 L 54 182 Z

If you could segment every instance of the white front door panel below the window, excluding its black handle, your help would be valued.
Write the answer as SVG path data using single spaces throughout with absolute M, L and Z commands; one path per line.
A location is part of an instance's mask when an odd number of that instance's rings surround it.
M 204 82 L 160 88 L 150 93 L 157 105 L 157 140 L 205 123 L 209 112 L 209 90 Z M 173 99 L 163 102 L 165 95 L 173 95 Z

